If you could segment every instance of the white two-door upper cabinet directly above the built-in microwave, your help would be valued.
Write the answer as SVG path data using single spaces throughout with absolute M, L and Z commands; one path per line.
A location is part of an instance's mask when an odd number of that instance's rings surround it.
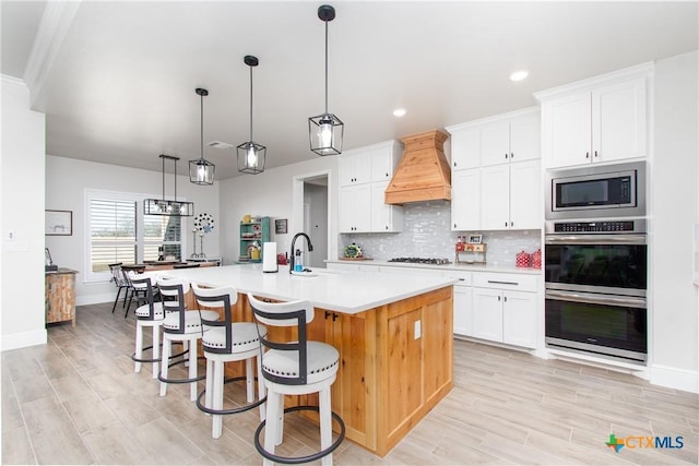
M 545 167 L 645 157 L 651 75 L 643 64 L 537 93 Z

